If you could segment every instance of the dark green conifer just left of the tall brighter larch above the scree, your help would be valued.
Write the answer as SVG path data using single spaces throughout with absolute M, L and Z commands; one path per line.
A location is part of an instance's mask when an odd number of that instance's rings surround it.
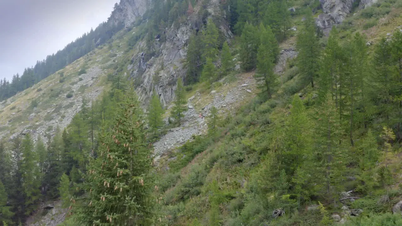
M 252 70 L 257 63 L 257 50 L 260 45 L 258 29 L 253 25 L 246 23 L 240 36 L 239 58 L 241 67 L 245 71 Z

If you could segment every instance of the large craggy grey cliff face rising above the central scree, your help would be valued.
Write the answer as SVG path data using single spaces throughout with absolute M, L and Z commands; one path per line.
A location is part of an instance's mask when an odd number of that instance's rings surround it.
M 186 74 L 183 62 L 187 55 L 187 41 L 191 33 L 199 31 L 203 23 L 207 21 L 207 18 L 201 15 L 201 5 L 196 6 L 194 10 L 194 13 L 179 26 L 172 25 L 164 31 L 166 41 L 160 41 L 162 34 L 155 37 L 152 47 L 155 53 L 152 57 L 147 56 L 144 51 L 138 51 L 133 55 L 131 60 L 133 64 L 127 68 L 129 68 L 130 78 L 137 81 L 135 82 L 136 91 L 143 104 L 148 102 L 153 90 L 156 90 L 164 106 L 174 99 L 177 79 L 183 78 Z M 224 16 L 219 7 L 219 0 L 211 0 L 207 10 L 211 16 Z M 226 38 L 232 37 L 225 20 L 217 24 L 217 27 Z M 144 48 L 146 48 L 145 43 L 137 44 L 137 49 Z

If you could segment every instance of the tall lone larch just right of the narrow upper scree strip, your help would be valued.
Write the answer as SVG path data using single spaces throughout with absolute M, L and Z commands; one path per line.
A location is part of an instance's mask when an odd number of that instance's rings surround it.
M 316 35 L 316 23 L 310 10 L 307 10 L 303 28 L 297 35 L 297 49 L 299 50 L 298 65 L 304 82 L 310 82 L 314 87 L 314 78 L 318 76 L 320 46 Z

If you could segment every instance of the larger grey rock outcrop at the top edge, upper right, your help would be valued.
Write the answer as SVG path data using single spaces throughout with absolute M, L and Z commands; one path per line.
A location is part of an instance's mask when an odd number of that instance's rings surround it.
M 355 0 L 320 0 L 324 13 L 330 15 L 336 24 L 342 23 L 351 12 Z

